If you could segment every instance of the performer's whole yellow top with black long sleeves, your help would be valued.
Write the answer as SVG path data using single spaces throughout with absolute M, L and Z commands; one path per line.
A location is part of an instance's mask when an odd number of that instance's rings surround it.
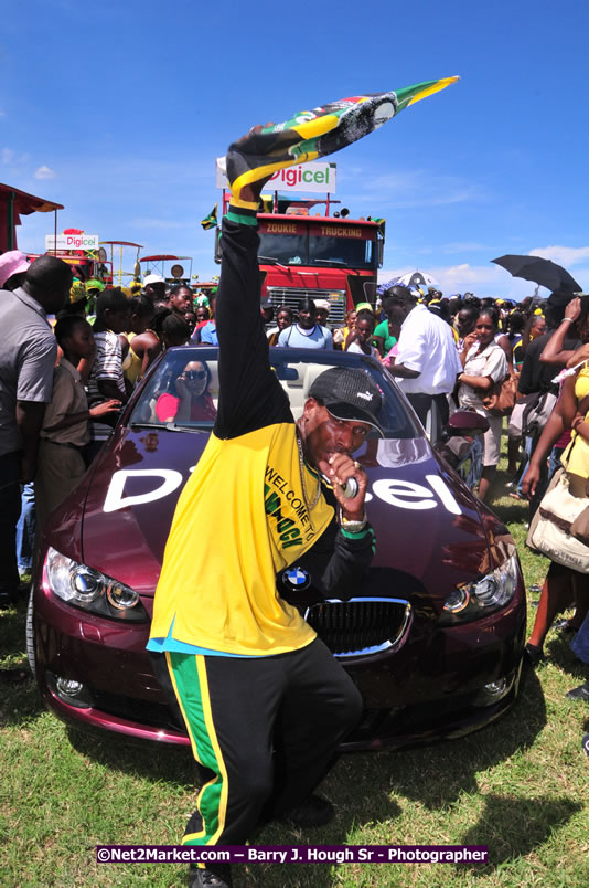
M 256 213 L 247 208 L 232 210 L 223 222 L 217 416 L 176 505 L 150 651 L 186 645 L 270 656 L 304 647 L 315 633 L 280 596 L 281 572 L 313 549 L 309 560 L 317 556 L 318 586 L 349 598 L 374 553 L 372 528 L 357 536 L 338 529 L 318 476 L 301 467 L 293 416 L 269 363 L 259 311 L 256 228 Z

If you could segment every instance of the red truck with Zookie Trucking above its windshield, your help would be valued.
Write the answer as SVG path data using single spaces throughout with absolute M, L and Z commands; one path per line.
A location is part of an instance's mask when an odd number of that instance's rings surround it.
M 345 212 L 345 211 L 344 211 Z M 330 303 L 330 326 L 357 303 L 374 303 L 383 264 L 384 220 L 258 213 L 261 297 L 275 309 L 310 296 Z M 218 239 L 217 255 L 219 261 Z

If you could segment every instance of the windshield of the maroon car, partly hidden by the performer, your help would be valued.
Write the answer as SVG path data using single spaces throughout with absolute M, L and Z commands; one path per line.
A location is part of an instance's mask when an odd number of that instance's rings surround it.
M 270 363 L 298 420 L 317 377 L 330 367 L 355 367 L 371 376 L 383 394 L 379 422 L 388 438 L 421 437 L 392 377 L 377 361 L 338 351 L 270 349 Z M 150 373 L 128 420 L 129 425 L 172 431 L 210 431 L 218 404 L 218 349 L 183 346 L 169 349 Z M 181 395 L 190 393 L 190 399 Z M 182 403 L 181 403 L 182 402 Z M 190 408 L 186 403 L 190 402 Z M 376 433 L 374 433 L 376 434 Z

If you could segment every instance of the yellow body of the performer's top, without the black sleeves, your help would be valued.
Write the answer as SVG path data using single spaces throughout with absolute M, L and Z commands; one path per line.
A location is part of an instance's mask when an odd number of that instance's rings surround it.
M 304 484 L 312 504 L 319 478 L 307 466 Z M 323 494 L 309 511 L 293 423 L 228 440 L 212 434 L 178 501 L 150 637 L 173 626 L 179 642 L 258 656 L 306 646 L 315 633 L 280 598 L 276 573 L 333 516 Z

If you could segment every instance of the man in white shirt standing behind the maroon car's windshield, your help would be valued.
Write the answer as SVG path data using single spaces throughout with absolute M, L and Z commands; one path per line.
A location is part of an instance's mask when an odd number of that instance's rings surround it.
M 436 405 L 438 423 L 448 421 L 448 398 L 462 372 L 450 326 L 425 305 L 417 304 L 407 287 L 394 286 L 383 298 L 388 319 L 400 326 L 397 358 L 389 368 L 424 426 Z M 433 435 L 436 436 L 436 435 Z

